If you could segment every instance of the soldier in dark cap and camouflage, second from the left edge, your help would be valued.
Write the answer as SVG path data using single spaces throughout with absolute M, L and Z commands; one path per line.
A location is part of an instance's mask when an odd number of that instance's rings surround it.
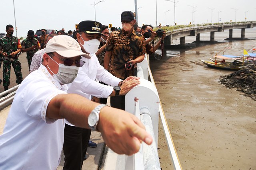
M 21 42 L 21 52 L 27 53 L 28 68 L 30 68 L 34 53 L 41 49 L 39 41 L 35 38 L 33 30 L 28 31 L 28 37 Z

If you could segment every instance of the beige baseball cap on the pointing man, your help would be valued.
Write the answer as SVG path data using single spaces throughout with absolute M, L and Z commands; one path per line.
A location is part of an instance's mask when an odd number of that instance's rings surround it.
M 56 52 L 59 55 L 72 58 L 76 56 L 83 56 L 90 59 L 90 55 L 83 53 L 81 47 L 76 40 L 68 35 L 57 35 L 52 37 L 46 44 L 45 53 Z

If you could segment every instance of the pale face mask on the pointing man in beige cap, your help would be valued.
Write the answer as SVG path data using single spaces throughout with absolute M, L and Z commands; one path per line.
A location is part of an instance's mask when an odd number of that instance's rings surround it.
M 50 56 L 50 55 L 49 55 Z M 50 57 L 52 59 L 52 57 Z M 54 61 L 54 59 L 52 59 Z M 56 64 L 58 64 L 56 61 L 54 61 Z M 55 80 L 57 80 L 60 84 L 69 84 L 72 83 L 77 74 L 79 67 L 77 66 L 65 66 L 64 64 L 58 64 L 59 65 L 59 70 L 57 74 L 54 74 L 52 70 L 49 68 L 49 70 L 52 72 L 52 76 L 54 77 Z

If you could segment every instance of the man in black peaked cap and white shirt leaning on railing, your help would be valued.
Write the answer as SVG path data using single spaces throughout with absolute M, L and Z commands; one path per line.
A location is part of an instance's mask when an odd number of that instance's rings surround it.
M 97 98 L 108 98 L 108 96 L 125 95 L 134 86 L 140 83 L 139 79 L 130 76 L 122 81 L 110 74 L 100 65 L 95 53 L 98 51 L 102 33 L 102 24 L 97 21 L 81 21 L 78 24 L 77 41 L 82 52 L 90 55 L 90 59 L 82 57 L 84 66 L 78 71 L 77 77 L 71 84 L 68 84 L 68 93 L 75 93 L 89 100 Z M 96 82 L 109 84 L 106 86 Z M 92 96 L 95 96 L 92 98 Z M 86 150 L 90 140 L 91 130 L 76 127 L 70 122 L 66 122 L 64 129 L 65 163 L 63 170 L 80 170 L 86 155 Z M 95 146 L 96 147 L 96 146 Z

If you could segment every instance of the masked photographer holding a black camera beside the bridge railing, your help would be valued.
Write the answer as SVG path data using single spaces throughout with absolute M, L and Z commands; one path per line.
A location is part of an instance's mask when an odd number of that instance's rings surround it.
M 148 55 L 153 54 L 158 47 L 163 43 L 164 37 L 166 36 L 166 33 L 162 29 L 158 29 L 157 31 L 153 31 L 152 25 L 143 25 L 141 27 L 141 34 L 144 36 L 145 39 L 145 47 L 146 47 L 146 53 Z M 154 45 L 154 38 L 159 37 L 160 40 Z M 161 38 L 162 37 L 162 38 Z M 148 43 L 152 41 L 152 45 L 149 45 Z M 161 47 L 163 49 L 163 45 Z

